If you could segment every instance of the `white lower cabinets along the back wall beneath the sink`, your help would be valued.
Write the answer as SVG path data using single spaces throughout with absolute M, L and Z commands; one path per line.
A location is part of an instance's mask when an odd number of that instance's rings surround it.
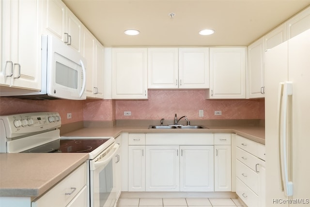
M 128 135 L 128 191 L 231 191 L 231 175 L 230 133 Z

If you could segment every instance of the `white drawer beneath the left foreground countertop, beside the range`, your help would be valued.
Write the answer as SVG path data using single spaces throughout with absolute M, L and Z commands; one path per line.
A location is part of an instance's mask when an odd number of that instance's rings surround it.
M 62 181 L 47 191 L 42 197 L 32 202 L 31 207 L 65 207 L 85 185 L 86 163 L 63 178 Z

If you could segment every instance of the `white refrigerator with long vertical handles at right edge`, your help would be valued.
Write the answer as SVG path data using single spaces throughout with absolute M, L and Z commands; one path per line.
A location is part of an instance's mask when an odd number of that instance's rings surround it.
M 265 52 L 266 207 L 310 207 L 310 30 Z

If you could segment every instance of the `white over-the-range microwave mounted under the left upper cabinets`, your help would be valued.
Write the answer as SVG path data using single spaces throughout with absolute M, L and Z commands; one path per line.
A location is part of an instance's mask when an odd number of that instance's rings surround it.
M 86 60 L 52 35 L 42 36 L 41 91 L 14 89 L 1 96 L 27 99 L 86 99 Z

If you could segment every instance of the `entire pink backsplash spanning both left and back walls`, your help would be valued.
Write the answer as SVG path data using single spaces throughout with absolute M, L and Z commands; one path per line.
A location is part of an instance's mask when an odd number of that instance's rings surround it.
M 0 98 L 0 115 L 36 111 L 58 111 L 62 124 L 78 121 L 111 121 L 117 119 L 264 119 L 263 99 L 205 100 L 204 90 L 149 90 L 148 100 L 24 100 Z M 199 110 L 204 117 L 199 117 Z M 124 116 L 131 111 L 131 116 Z M 214 111 L 222 111 L 221 116 Z M 67 113 L 72 119 L 67 119 Z

